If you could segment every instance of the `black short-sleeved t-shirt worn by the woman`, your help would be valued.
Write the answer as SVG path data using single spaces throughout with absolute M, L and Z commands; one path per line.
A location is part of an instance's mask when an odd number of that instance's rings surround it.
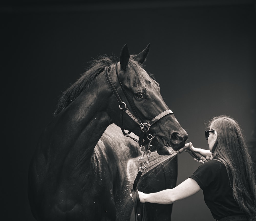
M 205 203 L 215 219 L 242 214 L 223 163 L 217 160 L 205 162 L 190 178 L 203 190 Z

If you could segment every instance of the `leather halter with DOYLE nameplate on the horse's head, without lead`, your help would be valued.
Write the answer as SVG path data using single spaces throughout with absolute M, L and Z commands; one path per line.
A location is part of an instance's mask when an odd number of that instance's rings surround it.
M 113 85 L 113 83 L 112 83 L 112 81 L 111 81 L 111 79 L 110 79 L 110 76 L 109 76 L 109 67 L 106 67 L 106 68 L 105 68 L 105 76 L 106 76 L 107 82 L 108 82 L 108 84 L 109 84 L 111 90 L 113 91 L 113 93 L 114 93 L 114 95 L 115 95 L 115 98 L 118 100 L 119 108 L 120 108 L 120 110 L 122 110 L 122 114 L 123 114 L 123 112 L 125 112 L 125 113 L 126 113 L 128 116 L 130 116 L 130 118 L 133 119 L 133 120 L 140 126 L 140 128 L 141 128 L 141 135 L 140 135 L 140 137 L 139 137 L 139 140 L 137 140 L 137 139 L 135 139 L 135 138 L 129 136 L 130 133 L 131 133 L 131 131 L 129 131 L 128 133 L 125 133 L 124 128 L 123 128 L 123 117 L 122 117 L 123 115 L 121 115 L 121 122 L 122 122 L 122 123 L 121 123 L 121 129 L 122 129 L 122 132 L 123 132 L 124 136 L 127 136 L 127 137 L 132 138 L 133 140 L 137 141 L 137 142 L 139 143 L 139 145 L 141 146 L 141 145 L 142 145 L 142 141 L 143 141 L 144 135 L 147 135 L 147 139 L 148 139 L 148 140 L 152 140 L 152 139 L 153 139 L 153 136 L 148 133 L 150 127 L 151 127 L 154 123 L 156 123 L 158 120 L 160 120 L 162 117 L 164 117 L 165 115 L 171 114 L 171 113 L 173 113 L 173 112 L 172 112 L 171 110 L 166 110 L 166 111 L 164 111 L 164 112 L 158 114 L 155 118 L 153 118 L 153 119 L 152 119 L 151 121 L 149 121 L 148 123 L 142 123 L 141 120 L 140 120 L 140 118 L 138 117 L 138 115 L 137 115 L 137 113 L 136 113 L 136 111 L 135 111 L 135 109 L 134 109 L 134 107 L 133 107 L 133 105 L 132 105 L 130 99 L 128 98 L 128 96 L 127 96 L 127 94 L 126 94 L 126 92 L 125 92 L 125 90 L 124 90 L 124 88 L 123 88 L 123 85 L 122 85 L 120 79 L 119 79 L 118 70 L 117 70 L 117 64 L 116 64 L 116 66 L 115 66 L 115 72 L 116 72 L 116 76 L 117 76 L 118 82 L 119 82 L 119 84 L 120 84 L 120 86 L 121 86 L 121 88 L 122 88 L 122 91 L 123 91 L 123 93 L 124 93 L 124 95 L 125 95 L 127 101 L 129 102 L 129 105 L 130 105 L 132 111 L 130 111 L 130 110 L 127 108 L 126 103 L 123 102 L 122 99 L 120 98 L 118 92 L 116 91 L 116 89 L 115 89 L 115 87 L 114 87 L 114 85 Z

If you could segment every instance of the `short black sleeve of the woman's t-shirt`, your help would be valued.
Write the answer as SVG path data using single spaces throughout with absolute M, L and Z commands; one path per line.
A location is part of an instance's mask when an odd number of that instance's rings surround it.
M 211 160 L 200 165 L 190 178 L 194 179 L 202 190 L 208 187 L 218 176 L 221 162 Z

